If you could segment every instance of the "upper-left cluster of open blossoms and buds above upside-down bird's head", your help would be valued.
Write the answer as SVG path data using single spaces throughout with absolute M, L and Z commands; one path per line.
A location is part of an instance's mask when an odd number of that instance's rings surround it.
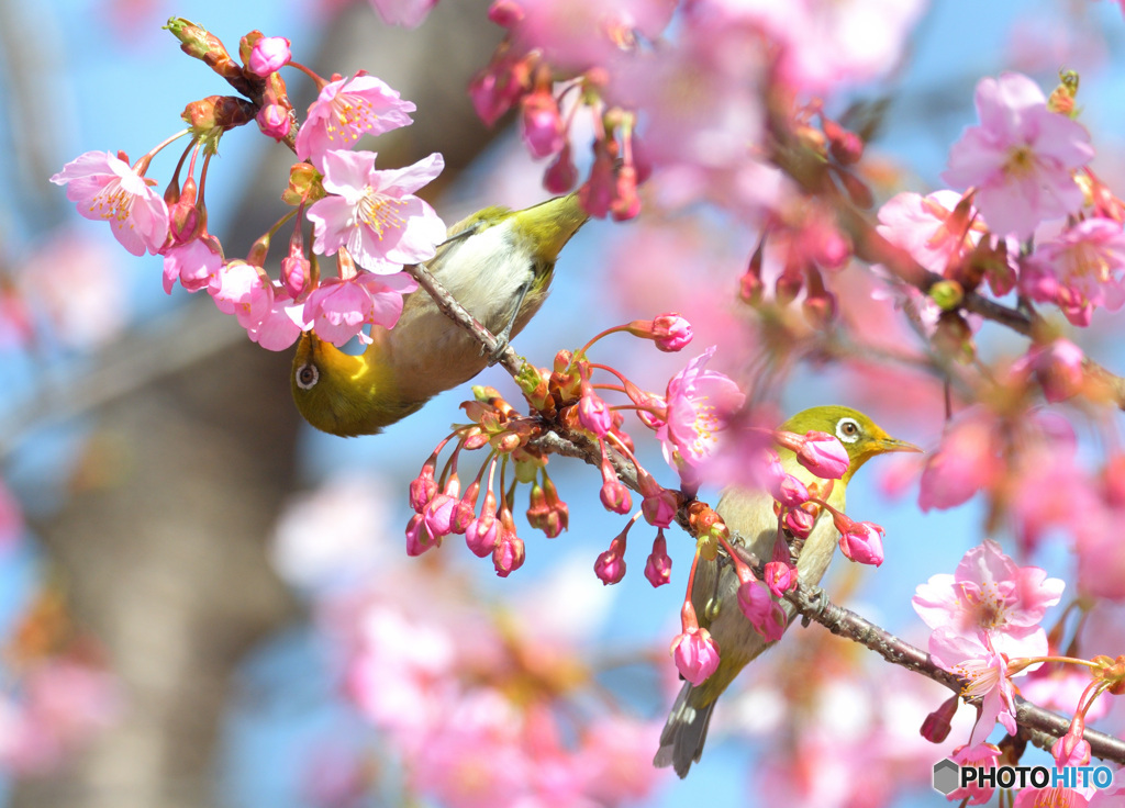
M 88 152 L 55 174 L 68 198 L 89 219 L 101 219 L 134 255 L 145 251 L 164 260 L 164 289 L 179 283 L 191 292 L 207 290 L 220 311 L 234 315 L 250 338 L 281 351 L 303 330 L 335 345 L 366 338 L 368 326 L 393 327 L 403 296 L 416 288 L 404 273 L 407 264 L 434 256 L 446 225 L 415 192 L 441 173 L 440 154 L 403 169 L 375 167 L 375 152 L 354 151 L 364 135 L 380 135 L 411 124 L 414 105 L 384 81 L 363 72 L 331 81 L 290 61 L 289 43 L 259 31 L 242 38 L 235 62 L 209 33 L 182 19 L 172 33 L 191 56 L 204 60 L 248 99 L 212 96 L 188 105 L 189 128 L 136 164 L 124 153 Z M 320 88 L 305 121 L 296 122 L 285 81 L 278 71 L 292 66 Z M 295 210 L 261 236 L 243 258 L 227 258 L 208 231 L 205 185 L 210 157 L 222 135 L 256 121 L 267 136 L 284 142 L 299 158 L 282 200 Z M 161 196 L 146 176 L 158 152 L 190 134 L 191 143 Z M 205 155 L 199 180 L 196 162 Z M 190 156 L 190 161 L 188 160 Z M 188 162 L 187 176 L 180 171 Z M 266 270 L 270 243 L 292 219 L 280 276 Z M 303 229 L 312 228 L 310 249 Z M 336 256 L 336 272 L 322 276 L 318 256 Z

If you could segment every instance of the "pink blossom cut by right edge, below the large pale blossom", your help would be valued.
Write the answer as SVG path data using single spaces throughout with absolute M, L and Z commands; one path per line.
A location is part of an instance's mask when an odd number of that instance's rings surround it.
M 1024 260 L 1020 290 L 1055 303 L 1071 323 L 1090 325 L 1096 308 L 1125 302 L 1125 231 L 1122 223 L 1090 218 L 1038 244 Z

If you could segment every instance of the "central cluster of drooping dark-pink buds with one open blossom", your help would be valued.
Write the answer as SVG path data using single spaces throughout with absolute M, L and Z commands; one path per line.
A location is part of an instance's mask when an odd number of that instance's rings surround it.
M 632 496 L 614 465 L 614 461 L 621 464 L 622 457 L 636 470 L 638 489 L 644 497 L 641 509 L 611 542 L 610 548 L 598 556 L 594 565 L 597 577 L 608 584 L 624 577 L 627 536 L 644 516 L 657 528 L 645 574 L 654 587 L 668 582 L 672 560 L 664 528 L 675 518 L 682 497 L 659 485 L 637 461 L 632 438 L 623 428 L 623 410 L 634 409 L 641 423 L 660 441 L 669 464 L 682 474 L 690 474 L 714 450 L 717 433 L 741 406 L 742 394 L 734 381 L 705 369 L 713 347 L 675 374 L 664 396 L 644 391 L 618 371 L 594 364 L 586 357 L 597 339 L 615 332 L 651 339 L 665 352 L 680 351 L 692 338 L 691 325 L 676 314 L 667 314 L 603 332 L 577 353 L 560 351 L 551 370 L 537 371 L 526 366 L 519 382 L 534 410 L 531 416 L 520 415 L 492 388 L 476 388 L 476 400 L 464 405 L 471 424 L 446 437 L 411 483 L 411 506 L 415 516 L 406 528 L 407 553 L 421 554 L 440 545 L 444 536 L 461 534 L 475 554 L 492 556 L 498 575 L 508 575 L 523 564 L 525 553 L 523 539 L 515 532 L 512 511 L 518 483 L 531 487 L 529 524 L 541 529 L 548 538 L 561 534 L 568 523 L 567 505 L 547 473 L 547 454 L 534 445 L 536 438 L 557 425 L 597 442 L 602 457 L 600 496 L 608 510 L 616 514 L 632 510 Z M 612 373 L 621 384 L 595 385 L 592 374 L 597 370 Z M 611 407 L 598 393 L 600 389 L 623 393 L 630 403 Z M 450 457 L 441 474 L 435 475 L 439 455 L 454 438 L 457 444 Z M 489 450 L 490 456 L 462 492 L 457 472 L 460 452 L 484 447 Z M 514 479 L 511 485 L 507 483 L 508 466 Z M 478 510 L 486 471 L 484 502 Z

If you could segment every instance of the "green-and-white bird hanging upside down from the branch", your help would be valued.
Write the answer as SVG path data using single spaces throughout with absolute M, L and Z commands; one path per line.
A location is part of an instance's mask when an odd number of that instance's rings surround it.
M 486 355 L 416 290 L 394 328 L 372 327 L 371 344 L 360 355 L 340 351 L 314 330 L 302 334 L 291 378 L 302 416 L 341 437 L 371 435 L 475 376 L 539 311 L 559 253 L 588 218 L 572 193 L 524 210 L 484 208 L 450 227 L 425 266 L 497 335 L 500 347 Z

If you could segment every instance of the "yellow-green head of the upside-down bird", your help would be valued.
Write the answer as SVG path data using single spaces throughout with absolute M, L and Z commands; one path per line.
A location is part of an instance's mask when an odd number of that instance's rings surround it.
M 305 332 L 292 357 L 292 398 L 309 424 L 353 437 L 374 435 L 417 411 L 424 401 L 403 402 L 378 343 L 361 356 Z

